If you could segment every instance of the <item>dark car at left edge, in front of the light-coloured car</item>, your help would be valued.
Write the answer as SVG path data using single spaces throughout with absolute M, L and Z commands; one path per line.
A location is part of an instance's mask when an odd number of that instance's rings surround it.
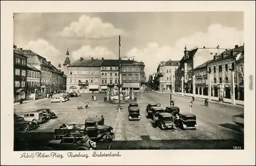
M 25 121 L 23 117 L 14 114 L 14 130 L 30 131 L 36 127 L 36 123 Z

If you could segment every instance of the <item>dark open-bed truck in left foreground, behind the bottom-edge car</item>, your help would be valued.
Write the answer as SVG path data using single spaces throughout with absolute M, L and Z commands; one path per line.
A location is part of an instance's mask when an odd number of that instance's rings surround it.
M 67 127 L 55 129 L 55 139 L 61 138 L 66 133 L 79 132 L 80 135 L 88 135 L 92 141 L 103 140 L 111 143 L 115 138 L 113 127 L 98 124 L 98 118 L 87 118 L 84 124 L 67 124 Z

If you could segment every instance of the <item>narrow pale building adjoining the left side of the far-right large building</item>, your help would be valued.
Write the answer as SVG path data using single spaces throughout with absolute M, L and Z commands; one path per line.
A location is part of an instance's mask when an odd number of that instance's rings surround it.
M 196 95 L 208 95 L 208 74 L 207 74 L 207 63 L 206 61 L 202 65 L 196 67 L 193 71 L 195 74 L 195 93 Z

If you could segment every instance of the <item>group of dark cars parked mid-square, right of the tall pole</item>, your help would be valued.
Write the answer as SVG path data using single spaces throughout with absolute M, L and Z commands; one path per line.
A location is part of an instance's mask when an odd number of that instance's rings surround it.
M 140 108 L 138 103 L 130 103 L 128 106 L 129 120 L 140 120 Z M 154 126 L 160 129 L 174 129 L 177 126 L 181 129 L 196 129 L 198 127 L 196 115 L 180 113 L 178 106 L 161 107 L 160 103 L 148 103 L 146 106 L 146 118 L 153 120 Z

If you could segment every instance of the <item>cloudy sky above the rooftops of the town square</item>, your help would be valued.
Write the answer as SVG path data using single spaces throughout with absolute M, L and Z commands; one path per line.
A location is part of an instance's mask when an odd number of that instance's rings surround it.
M 15 13 L 14 44 L 31 49 L 56 67 L 65 61 L 135 56 L 146 75 L 160 61 L 180 60 L 187 48 L 243 44 L 242 12 Z

